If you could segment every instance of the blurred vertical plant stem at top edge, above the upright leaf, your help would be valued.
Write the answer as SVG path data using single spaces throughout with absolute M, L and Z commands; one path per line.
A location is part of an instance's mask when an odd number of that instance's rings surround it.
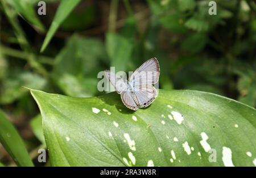
M 118 0 L 112 0 L 109 12 L 109 32 L 115 32 L 115 21 L 117 20 Z

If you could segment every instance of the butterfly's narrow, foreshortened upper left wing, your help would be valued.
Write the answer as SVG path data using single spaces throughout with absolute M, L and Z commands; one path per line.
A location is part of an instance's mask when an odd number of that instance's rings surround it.
M 115 91 L 117 91 L 118 94 L 121 94 L 122 91 L 126 90 L 127 82 L 125 80 L 117 77 L 117 75 L 109 70 L 105 70 L 105 75 L 109 79 L 110 83 L 114 86 Z

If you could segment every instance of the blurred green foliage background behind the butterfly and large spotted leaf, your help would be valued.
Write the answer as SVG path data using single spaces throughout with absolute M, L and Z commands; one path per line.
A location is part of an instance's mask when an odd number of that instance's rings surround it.
M 134 71 L 151 57 L 160 63 L 160 88 L 256 106 L 254 1 L 216 0 L 217 15 L 209 15 L 205 0 L 55 0 L 46 1 L 45 16 L 37 2 L 0 3 L 0 107 L 16 120 L 39 113 L 22 86 L 101 95 L 99 71 Z

